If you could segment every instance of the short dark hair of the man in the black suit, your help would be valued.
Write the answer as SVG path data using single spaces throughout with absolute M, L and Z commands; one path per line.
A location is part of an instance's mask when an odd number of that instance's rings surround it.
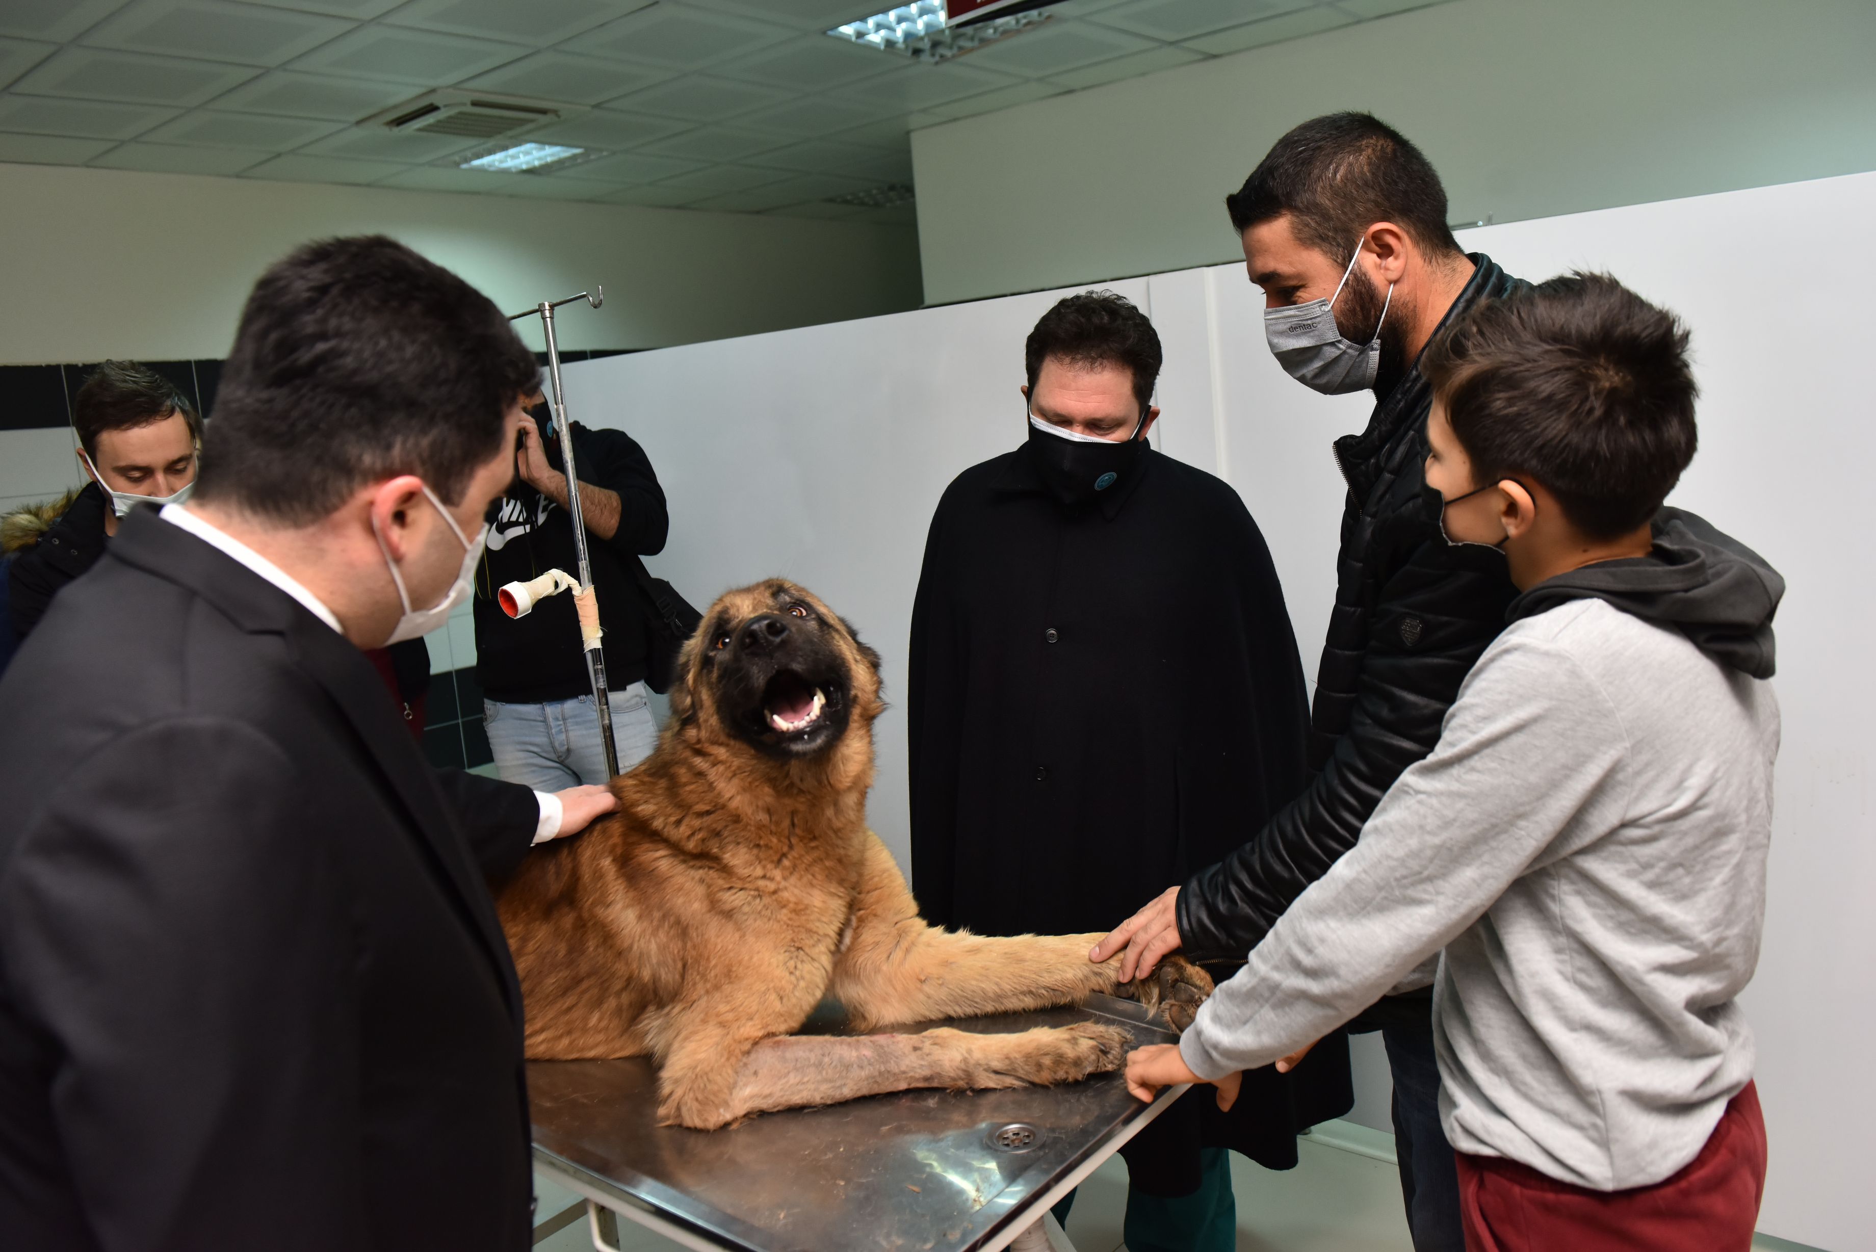
M 253 285 L 197 499 L 289 526 L 415 473 L 458 503 L 540 370 L 488 297 L 383 235 L 306 244 Z

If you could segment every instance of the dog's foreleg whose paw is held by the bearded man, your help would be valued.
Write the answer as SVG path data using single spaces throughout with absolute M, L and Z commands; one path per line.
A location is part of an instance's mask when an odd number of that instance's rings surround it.
M 1152 1010 L 1163 1006 L 1167 1019 L 1184 1029 L 1212 991 L 1204 970 L 1178 957 L 1163 961 L 1144 984 L 1118 985 L 1118 955 L 1101 965 L 1088 959 L 1101 935 L 991 939 L 927 925 L 899 863 L 878 839 L 867 848 L 852 925 L 829 991 L 863 1027 L 1047 1008 L 1111 991 Z

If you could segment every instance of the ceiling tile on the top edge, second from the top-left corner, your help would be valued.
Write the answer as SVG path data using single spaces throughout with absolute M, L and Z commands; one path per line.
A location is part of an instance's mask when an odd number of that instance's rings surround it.
M 139 0 L 86 34 L 84 43 L 126 53 L 280 66 L 351 28 L 338 17 L 223 0 Z

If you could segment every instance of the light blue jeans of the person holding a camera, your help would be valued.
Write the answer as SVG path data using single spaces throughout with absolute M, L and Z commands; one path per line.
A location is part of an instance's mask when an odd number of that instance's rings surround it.
M 658 745 L 658 723 L 645 704 L 645 683 L 610 693 L 612 741 L 625 773 Z M 548 704 L 482 700 L 482 725 L 495 751 L 495 771 L 540 792 L 606 783 L 606 747 L 593 696 Z

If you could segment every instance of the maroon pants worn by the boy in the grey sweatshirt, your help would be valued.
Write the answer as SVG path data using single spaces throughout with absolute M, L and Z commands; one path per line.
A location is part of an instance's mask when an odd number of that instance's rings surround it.
M 1765 1117 L 1747 1083 L 1700 1156 L 1626 1192 L 1593 1192 L 1501 1156 L 1460 1158 L 1465 1252 L 1747 1252 L 1765 1194 Z

